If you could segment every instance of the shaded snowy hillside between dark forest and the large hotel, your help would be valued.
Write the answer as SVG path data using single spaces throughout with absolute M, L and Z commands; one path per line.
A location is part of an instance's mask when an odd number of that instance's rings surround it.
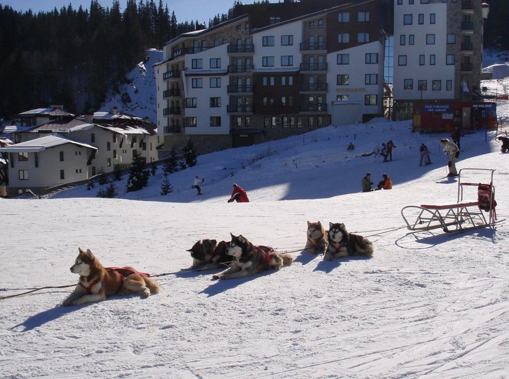
M 162 50 L 148 49 L 146 53 L 148 60 L 139 62 L 126 75 L 127 83 L 119 83 L 120 93 L 115 93 L 113 88 L 106 93 L 107 100 L 99 111 L 117 107 L 123 112 L 138 117 L 148 116 L 152 122 L 157 122 L 156 79 L 152 65 L 162 60 Z

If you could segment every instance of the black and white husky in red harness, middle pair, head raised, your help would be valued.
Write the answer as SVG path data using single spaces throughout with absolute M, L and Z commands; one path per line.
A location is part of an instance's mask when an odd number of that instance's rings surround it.
M 293 258 L 280 255 L 269 246 L 253 246 L 242 235 L 234 236 L 226 254 L 233 259 L 230 268 L 213 275 L 214 279 L 233 279 L 256 274 L 273 268 L 279 270 L 282 266 L 290 265 Z

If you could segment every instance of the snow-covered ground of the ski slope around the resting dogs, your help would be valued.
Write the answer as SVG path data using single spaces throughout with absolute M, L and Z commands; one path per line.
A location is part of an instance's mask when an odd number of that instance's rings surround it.
M 213 281 L 214 271 L 167 275 L 157 279 L 161 293 L 148 299 L 64 308 L 58 305 L 70 290 L 63 289 L 0 300 L 0 376 L 505 377 L 507 223 L 454 235 L 397 229 L 403 206 L 457 196 L 456 179 L 444 178 L 443 135 L 409 129 L 405 122 L 329 127 L 203 155 L 169 176 L 176 192 L 165 197 L 158 172 L 150 187 L 122 199 L 94 198 L 97 187 L 0 199 L 0 267 L 7 273 L 0 287 L 9 289 L 2 295 L 75 282 L 69 267 L 78 246 L 90 247 L 105 266 L 132 264 L 153 274 L 189 266 L 185 249 L 230 232 L 295 250 L 305 243 L 306 220 L 343 222 L 376 247 L 371 259 L 333 262 L 294 252 L 292 266 L 243 279 Z M 494 137 L 463 137 L 457 166 L 497 169 L 503 219 L 509 156 Z M 393 162 L 355 157 L 389 139 L 397 145 Z M 434 154 L 431 166 L 418 165 L 421 143 Z M 257 154 L 268 156 L 249 165 Z M 393 190 L 360 193 L 366 171 L 374 182 L 387 172 Z M 203 197 L 189 188 L 194 175 L 206 178 Z M 250 203 L 226 203 L 233 182 Z M 466 198 L 474 200 L 472 188 Z

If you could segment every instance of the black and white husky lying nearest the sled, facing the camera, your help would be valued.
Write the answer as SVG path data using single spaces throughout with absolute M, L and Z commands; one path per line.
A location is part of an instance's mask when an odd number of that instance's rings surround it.
M 345 224 L 329 223 L 327 237 L 329 246 L 323 257 L 325 261 L 348 256 L 371 257 L 373 255 L 373 243 L 367 238 L 348 233 Z

